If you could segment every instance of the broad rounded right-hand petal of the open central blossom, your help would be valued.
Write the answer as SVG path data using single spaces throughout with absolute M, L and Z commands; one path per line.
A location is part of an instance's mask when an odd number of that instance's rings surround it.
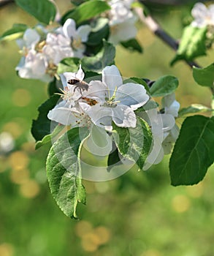
M 122 105 L 127 105 L 133 110 L 137 110 L 148 102 L 149 96 L 146 94 L 144 86 L 137 83 L 126 83 L 119 87 L 116 92 L 115 101 Z

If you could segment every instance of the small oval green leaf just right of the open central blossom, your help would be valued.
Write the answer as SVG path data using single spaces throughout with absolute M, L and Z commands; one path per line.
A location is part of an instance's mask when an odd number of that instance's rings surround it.
M 177 89 L 178 80 L 172 75 L 164 75 L 153 83 L 150 88 L 150 94 L 152 97 L 164 97 L 168 94 L 172 94 Z

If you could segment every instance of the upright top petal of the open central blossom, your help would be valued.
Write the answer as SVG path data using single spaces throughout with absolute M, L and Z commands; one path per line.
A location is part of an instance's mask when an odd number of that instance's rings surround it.
M 110 90 L 110 96 L 115 91 L 115 87 L 122 85 L 123 80 L 118 68 L 115 65 L 107 66 L 102 70 L 102 82 L 107 85 Z

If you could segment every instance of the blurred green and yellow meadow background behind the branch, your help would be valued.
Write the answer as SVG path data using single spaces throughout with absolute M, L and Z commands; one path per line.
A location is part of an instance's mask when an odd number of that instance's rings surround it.
M 61 11 L 69 1 L 58 1 Z M 179 38 L 187 8 L 156 11 L 161 25 Z M 34 26 L 36 20 L 15 5 L 0 10 L 0 34 L 13 23 Z M 210 91 L 194 83 L 191 69 L 180 62 L 169 67 L 174 53 L 145 26 L 137 35 L 144 53 L 118 47 L 116 64 L 125 77 L 155 80 L 175 75 L 177 99 L 209 106 Z M 15 42 L 0 45 L 0 256 L 213 256 L 214 167 L 193 187 L 172 187 L 169 157 L 146 172 L 131 170 L 107 182 L 84 181 L 87 206 L 78 207 L 80 221 L 65 217 L 56 206 L 45 174 L 48 148 L 34 151 L 31 119 L 47 99 L 47 86 L 18 78 L 20 55 Z M 213 62 L 214 54 L 199 59 Z M 181 123 L 183 120 L 178 120 Z

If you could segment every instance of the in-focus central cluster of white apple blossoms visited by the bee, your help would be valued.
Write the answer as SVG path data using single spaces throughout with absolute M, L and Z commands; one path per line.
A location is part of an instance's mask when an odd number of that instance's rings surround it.
M 70 80 L 79 80 L 70 84 Z M 61 75 L 64 86 L 61 102 L 50 110 L 47 117 L 59 124 L 73 127 L 88 127 L 93 132 L 99 132 L 99 140 L 107 143 L 106 154 L 112 150 L 112 122 L 118 127 L 135 128 L 137 117 L 134 110 L 144 106 L 150 97 L 145 87 L 137 83 L 123 83 L 120 72 L 115 65 L 107 66 L 102 70 L 102 81 L 91 80 L 83 82 L 84 72 L 80 69 L 74 72 L 65 72 Z M 87 86 L 86 86 L 87 85 Z M 163 99 L 163 112 L 156 108 L 137 112 L 137 115 L 148 121 L 153 132 L 153 147 L 148 156 L 145 169 L 158 163 L 169 154 L 172 143 L 178 136 L 178 127 L 175 124 L 180 104 L 175 100 L 175 94 Z M 162 111 L 161 111 L 162 112 Z M 96 129 L 92 129 L 96 127 Z M 90 150 L 95 153 L 93 140 L 89 138 Z M 100 149 L 99 149 L 100 150 Z M 96 151 L 100 154 L 100 151 Z

